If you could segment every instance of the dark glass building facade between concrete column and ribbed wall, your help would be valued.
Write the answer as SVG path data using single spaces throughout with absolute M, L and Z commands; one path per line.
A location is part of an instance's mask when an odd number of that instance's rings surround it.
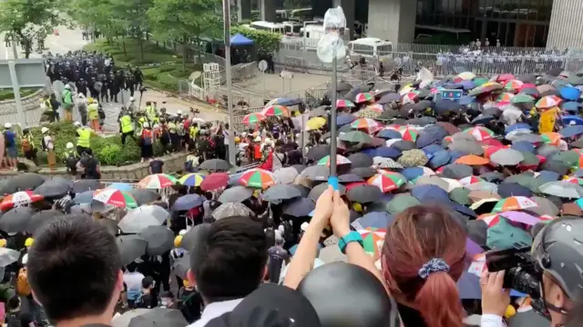
M 439 43 L 451 44 L 455 35 L 457 43 L 480 39 L 485 45 L 487 39 L 490 45 L 499 40 L 502 46 L 544 47 L 552 5 L 553 0 L 418 0 L 415 35 L 423 37 L 435 26 L 427 43 L 440 35 Z

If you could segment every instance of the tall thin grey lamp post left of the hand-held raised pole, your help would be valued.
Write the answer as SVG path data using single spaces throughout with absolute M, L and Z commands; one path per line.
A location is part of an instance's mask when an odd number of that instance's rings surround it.
M 229 110 L 229 163 L 235 165 L 235 137 L 233 131 L 233 100 L 230 71 L 230 0 L 222 0 L 222 16 L 225 26 L 225 70 L 227 73 L 227 106 Z

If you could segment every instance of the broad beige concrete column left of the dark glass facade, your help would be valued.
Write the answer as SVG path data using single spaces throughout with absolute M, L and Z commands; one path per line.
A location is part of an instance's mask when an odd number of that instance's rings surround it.
M 369 37 L 413 43 L 417 3 L 412 0 L 369 0 Z

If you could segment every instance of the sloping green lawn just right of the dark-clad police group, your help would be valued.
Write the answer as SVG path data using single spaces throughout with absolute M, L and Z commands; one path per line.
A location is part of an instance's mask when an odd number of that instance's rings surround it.
M 114 40 L 111 44 L 107 44 L 106 40 L 99 40 L 95 44 L 86 45 L 85 50 L 111 54 L 118 67 L 127 64 L 139 66 L 144 73 L 146 84 L 170 92 L 178 92 L 180 80 L 186 80 L 192 72 L 202 70 L 199 64 L 187 63 L 186 70 L 183 71 L 181 54 L 147 41 L 144 41 L 142 63 L 137 40 L 126 38 L 125 43 L 127 55 L 124 54 L 122 39 Z

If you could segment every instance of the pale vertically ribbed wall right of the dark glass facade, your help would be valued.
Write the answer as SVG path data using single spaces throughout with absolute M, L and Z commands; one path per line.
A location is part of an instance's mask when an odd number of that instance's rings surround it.
M 554 0 L 547 47 L 583 48 L 583 0 Z

